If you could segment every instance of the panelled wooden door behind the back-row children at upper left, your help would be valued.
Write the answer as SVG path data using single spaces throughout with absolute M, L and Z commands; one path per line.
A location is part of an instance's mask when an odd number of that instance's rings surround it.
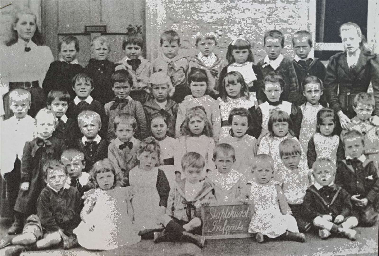
M 86 33 L 86 25 L 106 25 L 106 33 Z M 125 56 L 121 45 L 129 25 L 141 26 L 146 38 L 144 0 L 42 0 L 42 36 L 56 60 L 59 39 L 74 35 L 80 44 L 78 61 L 86 66 L 91 39 L 104 35 L 111 45 L 109 60 L 117 62 Z

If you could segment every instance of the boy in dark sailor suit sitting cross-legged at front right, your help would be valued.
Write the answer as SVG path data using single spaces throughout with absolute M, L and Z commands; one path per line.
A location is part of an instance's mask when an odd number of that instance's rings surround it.
M 312 168 L 315 184 L 307 189 L 304 196 L 304 219 L 319 229 L 318 235 L 321 239 L 326 239 L 331 234 L 339 234 L 356 240 L 357 231 L 351 228 L 358 225 L 358 220 L 351 217 L 350 195 L 333 182 L 334 162 L 329 158 L 318 158 Z

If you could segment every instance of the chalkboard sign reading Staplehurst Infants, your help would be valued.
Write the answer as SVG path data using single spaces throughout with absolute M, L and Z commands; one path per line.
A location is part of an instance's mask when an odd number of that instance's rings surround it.
M 252 204 L 209 205 L 201 208 L 205 239 L 251 237 L 247 233 L 253 214 Z

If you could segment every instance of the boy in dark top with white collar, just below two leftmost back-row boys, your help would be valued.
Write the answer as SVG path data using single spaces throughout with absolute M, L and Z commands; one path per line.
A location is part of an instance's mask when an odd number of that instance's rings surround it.
M 108 116 L 105 115 L 103 105 L 96 99 L 93 99 L 90 95 L 91 91 L 94 90 L 94 81 L 84 73 L 77 74 L 72 79 L 72 89 L 75 91 L 76 96 L 67 108 L 67 117 L 76 119 L 79 113 L 85 110 L 91 110 L 98 113 L 105 126 L 105 128 L 100 130 L 99 133 L 102 137 L 105 137 L 106 127 L 108 127 Z M 78 138 L 77 135 L 79 135 L 79 133 L 75 132 L 74 138 Z

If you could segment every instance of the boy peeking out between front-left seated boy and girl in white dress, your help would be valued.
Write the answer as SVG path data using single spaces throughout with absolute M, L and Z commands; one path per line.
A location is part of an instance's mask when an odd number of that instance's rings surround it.
M 89 174 L 82 172 L 86 166 L 83 152 L 73 148 L 66 149 L 61 155 L 61 162 L 67 168 L 67 184 L 76 187 L 80 196 L 83 196 L 84 192 L 91 189 L 87 185 Z

